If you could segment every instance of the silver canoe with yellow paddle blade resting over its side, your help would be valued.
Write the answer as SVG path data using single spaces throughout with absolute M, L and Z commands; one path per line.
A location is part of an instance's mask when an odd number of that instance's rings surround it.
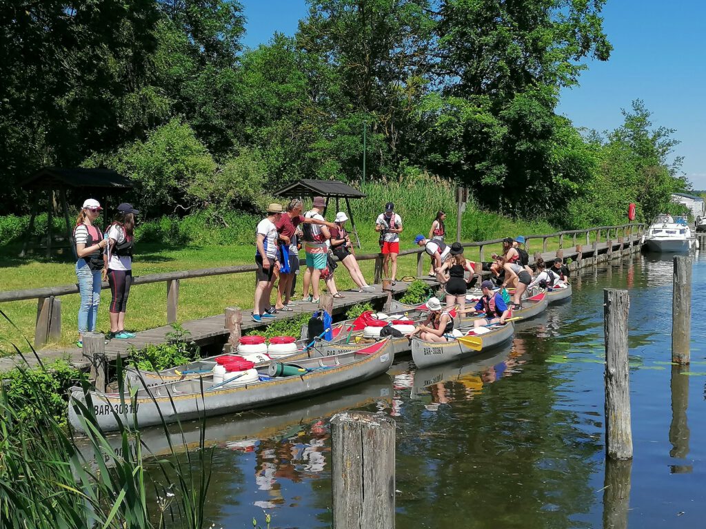
M 412 360 L 417 367 L 441 364 L 458 360 L 467 356 L 477 355 L 482 351 L 501 345 L 513 337 L 515 326 L 512 322 L 493 327 L 480 327 L 467 334 L 472 338 L 477 347 L 472 348 L 462 340 L 449 339 L 445 342 L 424 341 L 417 337 L 412 339 Z M 473 334 L 478 333 L 478 334 Z M 481 334 L 482 333 L 482 334 Z M 463 338 L 463 337 L 462 337 Z

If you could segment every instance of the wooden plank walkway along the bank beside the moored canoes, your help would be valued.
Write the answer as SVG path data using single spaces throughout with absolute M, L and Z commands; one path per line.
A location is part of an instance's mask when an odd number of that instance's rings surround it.
M 566 248 L 563 250 L 564 259 L 571 259 L 572 262 L 569 266 L 570 269 L 576 270 L 582 267 L 597 265 L 599 262 L 606 262 L 608 260 L 616 259 L 621 257 L 621 255 L 630 255 L 636 251 L 640 251 L 640 241 L 639 239 L 631 241 L 632 244 L 629 245 L 628 242 L 623 245 L 612 241 L 611 248 L 609 249 L 608 244 L 593 243 L 590 246 L 582 248 L 581 255 L 578 254 L 575 248 Z M 537 254 L 535 254 L 537 255 Z M 556 252 L 545 252 L 541 254 L 544 260 L 554 259 Z M 425 266 L 426 266 L 426 260 Z M 530 265 L 534 262 L 534 255 L 530 255 Z M 435 279 L 430 277 L 421 277 L 430 286 L 438 285 Z M 342 291 L 345 298 L 334 299 L 333 314 L 338 315 L 345 312 L 352 305 L 357 303 L 365 303 L 367 301 L 384 300 L 387 298 L 387 293 L 384 293 L 382 286 L 380 284 L 373 285 L 375 291 L 373 292 L 357 292 L 357 291 Z M 397 281 L 397 284 L 393 286 L 393 296 L 400 295 L 407 291 L 407 286 L 409 283 L 405 281 Z M 269 322 L 256 323 L 250 319 L 250 310 L 243 311 L 243 323 L 242 330 L 244 332 L 251 329 L 256 329 L 259 327 L 266 327 L 272 322 L 277 322 L 280 320 L 288 320 L 293 317 L 297 317 L 304 312 L 311 313 L 318 309 L 318 305 L 315 303 L 297 303 L 294 305 L 293 312 L 279 312 L 275 320 L 270 320 Z M 225 308 L 224 308 L 225 310 Z M 200 346 L 206 346 L 213 343 L 225 343 L 227 336 L 229 336 L 229 331 L 225 328 L 225 313 L 214 315 L 210 317 L 205 317 L 200 320 L 189 320 L 182 322 L 181 326 L 191 333 L 189 337 L 190 341 L 196 342 Z M 157 327 L 156 329 L 148 329 L 136 333 L 137 336 L 131 340 L 111 340 L 105 346 L 106 353 L 109 360 L 114 360 L 117 356 L 124 357 L 127 355 L 128 349 L 131 347 L 143 348 L 150 344 L 165 343 L 167 341 L 167 334 L 172 332 L 174 329 L 171 325 L 164 325 L 162 327 Z M 52 362 L 59 358 L 68 359 L 73 365 L 80 368 L 89 367 L 90 362 L 88 358 L 83 355 L 83 350 L 79 348 L 43 348 L 39 351 L 40 358 L 43 362 Z M 27 358 L 30 365 L 37 364 L 36 358 L 33 356 Z M 23 360 L 18 355 L 7 356 L 5 358 L 0 358 L 0 372 L 4 370 L 10 370 L 18 364 L 23 364 Z

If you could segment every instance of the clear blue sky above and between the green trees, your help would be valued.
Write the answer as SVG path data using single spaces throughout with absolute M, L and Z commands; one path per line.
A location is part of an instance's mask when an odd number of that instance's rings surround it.
M 294 35 L 307 12 L 304 0 L 241 1 L 249 47 L 275 31 Z M 558 112 L 603 131 L 620 125 L 633 99 L 644 100 L 655 127 L 676 129 L 682 169 L 694 188 L 706 189 L 706 1 L 608 0 L 603 16 L 611 59 L 590 61 L 580 85 L 562 92 Z

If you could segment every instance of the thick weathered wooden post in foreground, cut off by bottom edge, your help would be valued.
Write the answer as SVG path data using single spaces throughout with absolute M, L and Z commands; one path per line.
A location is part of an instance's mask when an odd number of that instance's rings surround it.
M 395 527 L 395 420 L 376 413 L 331 419 L 333 527 Z

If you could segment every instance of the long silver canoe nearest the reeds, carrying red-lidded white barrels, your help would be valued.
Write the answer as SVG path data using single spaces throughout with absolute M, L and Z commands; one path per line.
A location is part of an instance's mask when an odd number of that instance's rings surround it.
M 201 377 L 150 389 L 140 384 L 133 396 L 73 388 L 68 421 L 83 431 L 85 418 L 81 415 L 90 413 L 102 430 L 110 431 L 121 429 L 121 425 L 150 426 L 162 420 L 176 422 L 244 411 L 371 379 L 387 371 L 393 358 L 390 341 L 383 340 L 350 353 L 299 360 L 301 371 L 296 375 L 268 376 L 276 367 L 273 363 L 269 371 L 258 370 L 258 380 L 236 387 L 214 384 L 213 377 Z

